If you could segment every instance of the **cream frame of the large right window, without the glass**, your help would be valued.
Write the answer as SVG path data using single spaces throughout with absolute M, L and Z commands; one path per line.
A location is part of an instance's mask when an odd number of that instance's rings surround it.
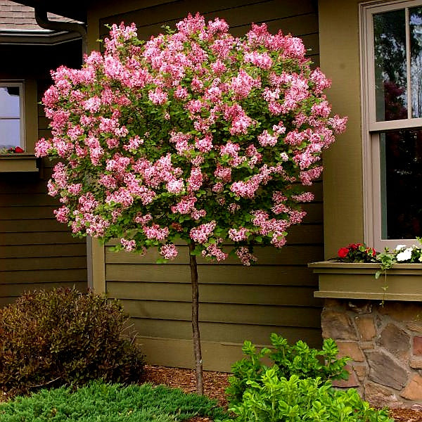
M 364 189 L 364 239 L 366 244 L 376 250 L 394 249 L 397 244 L 412 245 L 416 239 L 381 238 L 381 170 L 380 170 L 380 132 L 391 129 L 422 128 L 422 118 L 411 117 L 408 107 L 407 120 L 376 121 L 375 65 L 373 59 L 373 15 L 402 8 L 422 6 L 422 0 L 371 1 L 359 5 L 360 46 L 361 46 L 361 98 L 362 98 L 362 156 Z M 406 13 L 407 16 L 407 13 Z M 406 22 L 408 19 L 406 20 Z M 407 61 L 409 69 L 409 37 L 407 31 Z M 410 103 L 411 89 L 407 83 L 407 98 Z

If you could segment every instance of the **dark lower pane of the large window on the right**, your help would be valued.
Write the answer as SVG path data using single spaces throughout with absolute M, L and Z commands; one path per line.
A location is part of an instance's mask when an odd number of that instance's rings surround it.
M 422 235 L 422 130 L 380 134 L 383 239 Z

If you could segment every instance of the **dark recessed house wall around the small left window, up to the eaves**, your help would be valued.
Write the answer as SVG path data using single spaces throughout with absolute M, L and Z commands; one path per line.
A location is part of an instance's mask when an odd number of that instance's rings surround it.
M 2 46 L 0 79 L 32 79 L 40 101 L 50 84 L 50 68 L 80 63 L 79 42 L 67 45 L 66 56 L 63 50 L 63 46 Z M 8 68 L 7 63 L 11 63 Z M 39 136 L 48 136 L 41 106 L 31 106 L 25 110 L 34 114 L 30 117 L 38 123 Z M 73 238 L 67 226 L 56 222 L 53 210 L 58 200 L 46 193 L 51 163 L 42 160 L 39 168 L 39 172 L 0 171 L 0 305 L 13 302 L 25 290 L 87 288 L 86 241 Z

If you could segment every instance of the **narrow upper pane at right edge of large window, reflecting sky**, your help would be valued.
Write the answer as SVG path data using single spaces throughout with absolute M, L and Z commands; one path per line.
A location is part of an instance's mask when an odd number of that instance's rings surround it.
M 422 7 L 409 9 L 411 117 L 422 117 Z

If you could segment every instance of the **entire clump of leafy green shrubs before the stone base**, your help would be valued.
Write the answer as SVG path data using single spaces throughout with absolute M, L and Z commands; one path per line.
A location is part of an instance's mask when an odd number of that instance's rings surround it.
M 245 341 L 246 358 L 233 366 L 229 378 L 229 410 L 236 417 L 224 422 L 392 422 L 387 411 L 376 410 L 356 390 L 335 390 L 331 379 L 347 378 L 347 357 L 336 359 L 338 347 L 324 340 L 321 350 L 271 334 L 274 349 L 257 351 Z M 262 362 L 266 357 L 271 366 Z M 221 421 L 220 421 L 221 422 Z

